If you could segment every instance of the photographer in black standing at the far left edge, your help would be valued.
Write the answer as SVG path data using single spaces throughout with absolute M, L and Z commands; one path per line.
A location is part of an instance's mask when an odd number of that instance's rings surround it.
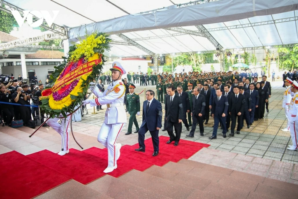
M 3 102 L 12 102 L 12 96 L 10 94 L 10 90 L 6 89 L 6 87 L 1 84 L 0 85 L 0 101 Z M 3 120 L 6 125 L 11 125 L 11 121 L 13 121 L 14 112 L 13 105 L 11 104 L 1 104 L 1 109 L 3 112 Z

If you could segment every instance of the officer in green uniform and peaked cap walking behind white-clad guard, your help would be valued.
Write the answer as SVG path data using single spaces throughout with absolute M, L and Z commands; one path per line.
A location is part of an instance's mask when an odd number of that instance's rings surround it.
M 138 121 L 136 120 L 136 115 L 140 115 L 140 109 L 141 109 L 140 96 L 134 93 L 135 88 L 136 86 L 134 84 L 128 85 L 129 93 L 126 94 L 126 107 L 130 117 L 129 117 L 127 133 L 125 133 L 125 135 L 131 134 L 133 123 L 136 126 L 136 131 L 134 133 L 139 132 L 139 129 L 140 129 Z

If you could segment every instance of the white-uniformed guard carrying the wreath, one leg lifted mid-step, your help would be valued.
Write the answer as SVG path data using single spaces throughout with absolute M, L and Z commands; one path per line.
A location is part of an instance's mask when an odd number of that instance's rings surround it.
M 83 105 L 89 104 L 91 107 L 107 105 L 105 111 L 105 120 L 100 128 L 97 140 L 108 149 L 108 167 L 103 171 L 105 173 L 112 172 L 117 169 L 117 160 L 120 157 L 121 144 L 116 143 L 117 137 L 127 122 L 125 108 L 123 106 L 125 86 L 122 83 L 122 75 L 126 72 L 118 61 L 112 64 L 112 80 L 108 85 L 108 89 L 100 92 L 95 87 L 93 93 L 96 99 L 86 99 Z

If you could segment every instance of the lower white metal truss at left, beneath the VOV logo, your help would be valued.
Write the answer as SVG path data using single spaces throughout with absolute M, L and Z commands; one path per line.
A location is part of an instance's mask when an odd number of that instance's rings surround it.
M 17 39 L 14 41 L 6 42 L 3 44 L 0 44 L 0 51 L 7 50 L 10 48 L 15 48 L 27 44 L 32 44 L 32 43 L 38 43 L 41 41 L 46 41 L 46 40 L 52 40 L 52 39 L 65 39 L 66 36 L 61 36 L 58 33 L 46 33 L 41 36 L 36 36 L 36 37 L 30 37 L 30 38 L 24 38 L 24 39 Z

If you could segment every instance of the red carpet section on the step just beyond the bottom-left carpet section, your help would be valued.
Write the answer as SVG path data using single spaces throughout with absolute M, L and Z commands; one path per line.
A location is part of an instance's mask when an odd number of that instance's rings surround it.
M 75 161 L 69 161 L 65 156 L 60 156 L 48 150 L 36 152 L 27 155 L 27 157 L 63 173 L 82 184 L 87 184 L 105 175 L 102 171 L 92 169 L 89 166 Z

